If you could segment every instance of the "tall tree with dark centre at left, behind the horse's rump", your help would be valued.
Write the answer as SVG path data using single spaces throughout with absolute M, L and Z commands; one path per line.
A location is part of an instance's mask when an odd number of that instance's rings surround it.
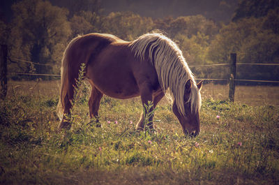
M 12 6 L 10 55 L 39 64 L 59 64 L 71 34 L 68 10 L 49 1 L 24 0 Z M 58 66 L 18 64 L 22 72 L 58 73 Z

